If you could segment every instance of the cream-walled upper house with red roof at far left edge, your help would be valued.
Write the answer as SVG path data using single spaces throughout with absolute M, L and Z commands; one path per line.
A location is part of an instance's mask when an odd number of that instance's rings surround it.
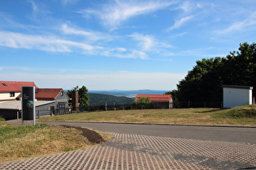
M 35 87 L 33 82 L 0 81 L 0 101 L 15 100 L 21 94 L 21 87 Z

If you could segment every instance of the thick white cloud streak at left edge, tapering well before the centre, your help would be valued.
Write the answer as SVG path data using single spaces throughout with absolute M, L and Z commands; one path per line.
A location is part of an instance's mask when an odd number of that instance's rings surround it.
M 30 36 L 15 32 L 0 32 L 0 46 L 50 52 L 72 52 L 75 49 L 90 51 L 98 48 L 71 40 L 61 40 L 53 36 Z

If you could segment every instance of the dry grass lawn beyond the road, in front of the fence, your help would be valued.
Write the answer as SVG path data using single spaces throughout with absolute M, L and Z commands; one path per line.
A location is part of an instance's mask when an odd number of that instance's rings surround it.
M 256 108 L 174 108 L 118 110 L 41 117 L 37 121 L 98 121 L 180 125 L 254 125 Z

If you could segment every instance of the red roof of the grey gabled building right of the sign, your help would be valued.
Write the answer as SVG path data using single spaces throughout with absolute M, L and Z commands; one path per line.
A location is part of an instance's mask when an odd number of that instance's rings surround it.
M 62 88 L 38 88 L 36 90 L 36 99 L 55 100 L 61 91 L 63 91 Z M 63 93 L 66 94 L 65 91 L 63 91 Z

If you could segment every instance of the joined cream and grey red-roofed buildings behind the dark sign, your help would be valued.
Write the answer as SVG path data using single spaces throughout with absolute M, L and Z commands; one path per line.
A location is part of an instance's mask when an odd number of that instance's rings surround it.
M 21 87 L 35 87 L 36 116 L 69 113 L 69 97 L 62 88 L 38 88 L 33 82 L 0 81 L 0 116 L 20 117 Z

